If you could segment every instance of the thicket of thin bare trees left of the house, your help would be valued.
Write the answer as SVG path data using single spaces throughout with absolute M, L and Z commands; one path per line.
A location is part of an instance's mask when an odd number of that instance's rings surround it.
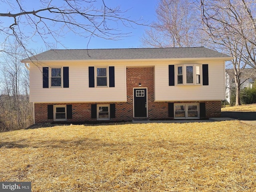
M 2 54 L 0 61 L 0 130 L 16 130 L 32 124 L 32 104 L 29 103 L 28 73 L 20 60 L 24 58 L 23 48 L 14 41 L 11 52 Z M 7 49 L 9 52 L 9 50 Z

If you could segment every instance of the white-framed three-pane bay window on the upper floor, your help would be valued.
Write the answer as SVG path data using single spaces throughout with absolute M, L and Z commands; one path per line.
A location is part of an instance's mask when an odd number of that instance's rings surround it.
M 186 64 L 176 66 L 177 85 L 201 85 L 202 69 L 201 65 Z

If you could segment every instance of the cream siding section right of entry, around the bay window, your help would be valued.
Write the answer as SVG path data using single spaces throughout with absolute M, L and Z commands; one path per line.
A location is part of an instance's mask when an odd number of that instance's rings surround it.
M 208 64 L 209 85 L 169 86 L 168 65 L 172 64 Z M 156 64 L 155 101 L 223 100 L 225 98 L 224 67 L 223 61 L 169 62 L 168 64 Z

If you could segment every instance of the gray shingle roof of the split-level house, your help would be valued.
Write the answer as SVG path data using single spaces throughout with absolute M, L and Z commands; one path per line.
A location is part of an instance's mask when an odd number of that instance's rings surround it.
M 175 59 L 228 58 L 230 56 L 205 47 L 190 48 L 124 48 L 48 50 L 22 60 L 118 60 L 118 59 Z M 230 60 L 230 59 L 228 59 Z

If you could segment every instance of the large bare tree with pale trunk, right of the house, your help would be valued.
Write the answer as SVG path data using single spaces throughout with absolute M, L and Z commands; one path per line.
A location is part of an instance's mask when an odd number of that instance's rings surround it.
M 246 0 L 201 0 L 206 42 L 234 57 L 236 105 L 240 105 L 241 73 L 246 65 L 256 67 L 256 3 Z

